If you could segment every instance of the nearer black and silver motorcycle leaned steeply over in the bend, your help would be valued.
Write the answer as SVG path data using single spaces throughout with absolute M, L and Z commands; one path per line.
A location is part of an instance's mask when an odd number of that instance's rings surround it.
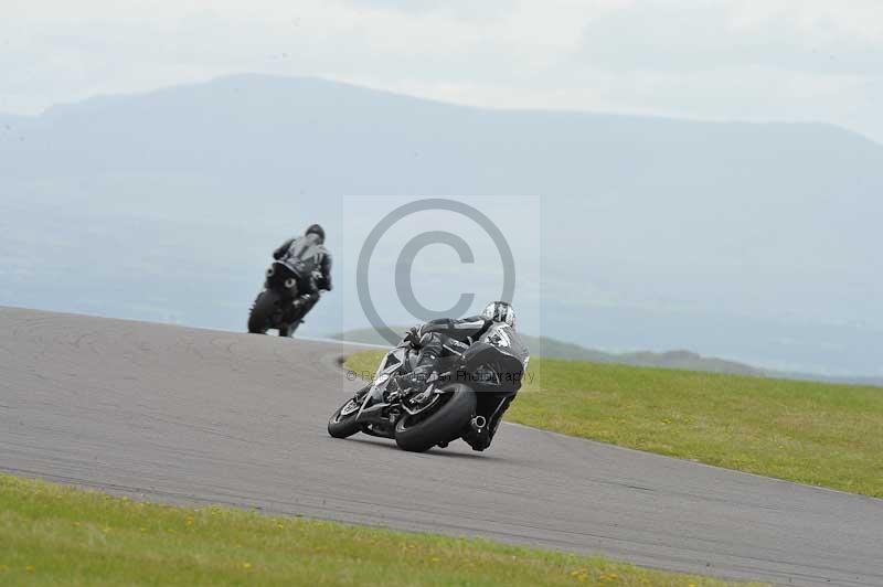
M 328 434 L 347 438 L 361 431 L 423 452 L 458 438 L 468 440 L 488 426 L 496 428 L 500 410 L 521 387 L 526 366 L 526 348 L 512 344 L 507 330 L 504 324 L 491 327 L 461 354 L 445 360 L 437 380 L 416 394 L 396 383 L 417 359 L 417 352 L 402 342 L 383 357 L 374 381 L 334 412 Z

